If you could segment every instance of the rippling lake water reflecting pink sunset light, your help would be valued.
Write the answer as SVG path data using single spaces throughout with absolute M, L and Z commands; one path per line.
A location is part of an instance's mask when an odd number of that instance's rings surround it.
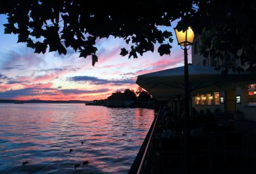
M 153 119 L 143 108 L 0 103 L 0 173 L 127 173 Z

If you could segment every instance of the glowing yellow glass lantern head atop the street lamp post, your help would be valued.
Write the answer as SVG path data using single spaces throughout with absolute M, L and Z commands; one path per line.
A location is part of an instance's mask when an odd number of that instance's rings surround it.
M 189 46 L 193 44 L 195 35 L 190 27 L 185 32 L 183 32 L 183 30 L 179 32 L 177 29 L 175 29 L 175 34 L 180 46 Z

